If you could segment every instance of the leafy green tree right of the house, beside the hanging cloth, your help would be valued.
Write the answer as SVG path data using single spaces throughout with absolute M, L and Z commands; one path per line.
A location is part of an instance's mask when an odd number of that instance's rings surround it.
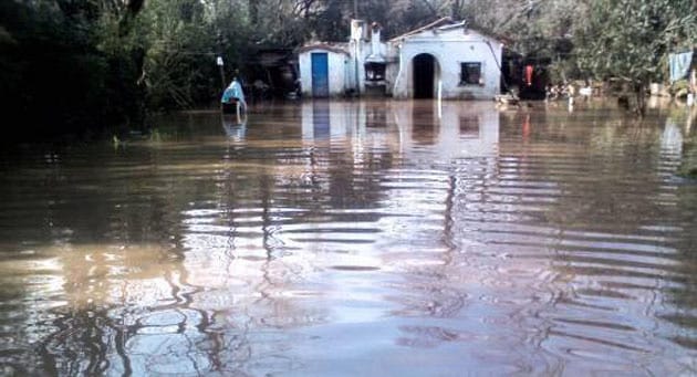
M 579 66 L 596 78 L 621 78 L 644 114 L 645 90 L 666 76 L 667 55 L 697 44 L 693 0 L 591 0 L 575 42 Z

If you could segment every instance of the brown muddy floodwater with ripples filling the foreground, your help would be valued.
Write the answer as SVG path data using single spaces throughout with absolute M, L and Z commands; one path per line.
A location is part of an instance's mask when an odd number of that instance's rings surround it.
M 697 374 L 684 108 L 305 102 L 0 166 L 0 375 Z

